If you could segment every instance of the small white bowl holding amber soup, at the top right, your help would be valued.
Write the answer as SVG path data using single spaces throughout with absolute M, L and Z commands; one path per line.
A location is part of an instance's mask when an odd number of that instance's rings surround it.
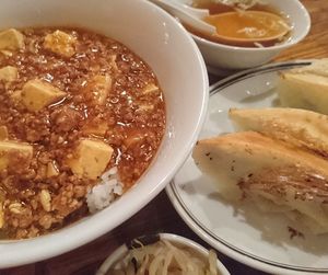
M 231 70 L 257 67 L 269 62 L 282 50 L 297 44 L 307 35 L 311 28 L 311 18 L 298 0 L 265 0 L 265 2 L 286 15 L 292 26 L 291 37 L 271 47 L 246 48 L 210 42 L 191 34 L 208 65 Z

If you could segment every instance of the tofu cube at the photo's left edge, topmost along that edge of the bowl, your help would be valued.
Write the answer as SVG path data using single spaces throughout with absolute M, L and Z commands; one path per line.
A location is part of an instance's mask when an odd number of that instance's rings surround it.
M 24 35 L 15 28 L 0 33 L 0 49 L 16 50 L 24 48 Z

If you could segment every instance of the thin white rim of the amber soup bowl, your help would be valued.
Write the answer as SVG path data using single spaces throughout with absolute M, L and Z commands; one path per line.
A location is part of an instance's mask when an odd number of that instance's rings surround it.
M 259 51 L 259 53 L 267 51 L 270 49 L 272 49 L 272 50 L 284 49 L 286 47 L 297 44 L 300 41 L 302 41 L 308 34 L 308 32 L 311 30 L 311 16 L 309 16 L 307 9 L 298 0 L 292 0 L 292 1 L 295 4 L 295 7 L 297 8 L 297 12 L 302 13 L 305 18 L 305 21 L 304 21 L 305 27 L 303 28 L 301 35 L 296 36 L 295 39 L 293 39 L 293 41 L 286 41 L 285 43 L 269 46 L 269 47 L 241 47 L 241 46 L 232 46 L 232 45 L 225 45 L 225 44 L 221 44 L 221 43 L 211 42 L 209 39 L 206 39 L 206 38 L 202 38 L 202 37 L 196 35 L 191 32 L 189 32 L 189 34 L 192 36 L 192 38 L 195 41 L 197 41 L 197 43 L 203 43 L 207 46 L 224 48 L 224 49 Z

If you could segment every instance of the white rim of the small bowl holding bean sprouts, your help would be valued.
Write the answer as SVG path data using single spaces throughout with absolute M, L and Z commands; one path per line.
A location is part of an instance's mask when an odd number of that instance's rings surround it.
M 178 245 L 186 247 L 190 250 L 194 250 L 197 254 L 203 256 L 204 259 L 207 259 L 209 255 L 209 250 L 207 250 L 199 243 L 197 243 L 190 239 L 187 239 L 185 237 L 172 234 L 172 233 L 160 233 L 159 236 L 160 236 L 161 240 L 167 240 L 172 243 L 176 243 Z M 98 271 L 96 272 L 95 275 L 106 275 L 106 272 L 113 265 L 119 263 L 125 256 L 127 256 L 128 252 L 129 252 L 129 249 L 128 249 L 127 244 L 120 245 L 105 260 L 105 262 L 101 265 L 101 267 L 98 268 Z M 218 267 L 218 271 L 220 271 L 220 274 L 230 275 L 230 272 L 219 261 L 219 259 L 216 260 L 216 267 Z

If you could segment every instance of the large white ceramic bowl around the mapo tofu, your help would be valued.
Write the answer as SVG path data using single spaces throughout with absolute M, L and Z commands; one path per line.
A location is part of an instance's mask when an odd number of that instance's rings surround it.
M 144 0 L 1 1 L 0 28 L 82 26 L 120 41 L 155 71 L 166 101 L 166 133 L 139 183 L 108 208 L 54 233 L 0 241 L 0 268 L 55 256 L 120 225 L 148 204 L 177 172 L 202 125 L 208 76 L 195 42 L 176 20 Z

